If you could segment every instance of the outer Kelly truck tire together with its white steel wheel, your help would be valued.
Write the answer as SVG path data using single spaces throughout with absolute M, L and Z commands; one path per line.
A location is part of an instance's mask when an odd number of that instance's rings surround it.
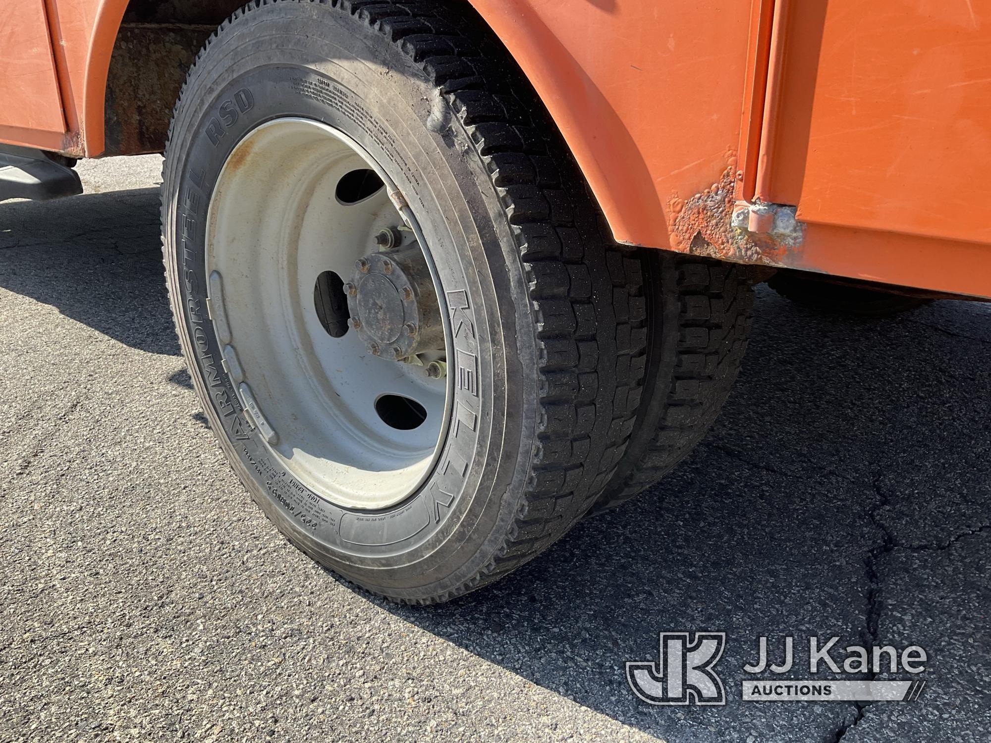
M 473 13 L 254 2 L 165 154 L 171 306 L 221 448 L 299 549 L 409 603 L 568 531 L 644 370 L 639 261 Z

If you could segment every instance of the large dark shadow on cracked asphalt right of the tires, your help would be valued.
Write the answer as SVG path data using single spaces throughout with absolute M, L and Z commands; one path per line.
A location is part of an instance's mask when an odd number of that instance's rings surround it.
M 672 743 L 977 740 L 991 719 L 991 308 L 865 322 L 758 294 L 737 388 L 673 475 L 494 586 L 427 608 L 374 600 Z M 948 568 L 947 542 L 968 569 Z M 705 630 L 727 635 L 725 706 L 633 696 L 624 661 L 656 662 L 659 631 Z M 795 637 L 794 679 L 823 678 L 809 674 L 811 635 L 922 645 L 927 694 L 864 710 L 743 702 L 761 635 L 779 654 Z

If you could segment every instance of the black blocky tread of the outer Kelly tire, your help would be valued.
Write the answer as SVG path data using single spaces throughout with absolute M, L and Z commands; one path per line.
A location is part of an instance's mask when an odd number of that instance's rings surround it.
M 638 261 L 612 241 L 577 163 L 529 82 L 466 4 L 253 0 L 211 35 L 190 76 L 209 47 L 240 19 L 281 3 L 323 5 L 367 24 L 441 92 L 489 172 L 528 284 L 539 360 L 538 446 L 505 539 L 473 577 L 434 595 L 410 597 L 370 588 L 406 603 L 445 601 L 533 559 L 588 511 L 612 477 L 635 420 L 638 395 L 630 389 L 642 383 L 642 274 Z M 182 94 L 176 112 L 181 101 Z M 171 137 L 170 128 L 169 144 Z M 167 152 L 166 145 L 166 162 Z M 165 193 L 163 201 L 165 230 Z M 586 223 L 594 224 L 590 229 Z M 616 288 L 611 302 L 596 300 L 590 263 Z M 174 306 L 177 287 L 169 285 L 169 290 Z M 599 328 L 607 327 L 612 315 L 616 337 L 623 339 L 614 353 L 611 331 L 603 339 L 590 327 L 590 318 Z M 631 363 L 635 359 L 640 362 Z M 624 393 L 613 394 L 612 380 L 618 378 Z

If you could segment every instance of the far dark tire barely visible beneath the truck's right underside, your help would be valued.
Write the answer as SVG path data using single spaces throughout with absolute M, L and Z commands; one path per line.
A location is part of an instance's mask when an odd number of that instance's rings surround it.
M 859 286 L 844 286 L 807 278 L 788 270 L 779 270 L 767 280 L 767 285 L 800 307 L 859 317 L 888 317 L 919 309 L 933 301 Z

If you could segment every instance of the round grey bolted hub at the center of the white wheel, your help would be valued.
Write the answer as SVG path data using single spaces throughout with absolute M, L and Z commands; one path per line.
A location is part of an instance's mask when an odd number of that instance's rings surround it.
M 400 361 L 444 348 L 440 305 L 418 246 L 359 259 L 344 288 L 352 327 L 370 354 Z

